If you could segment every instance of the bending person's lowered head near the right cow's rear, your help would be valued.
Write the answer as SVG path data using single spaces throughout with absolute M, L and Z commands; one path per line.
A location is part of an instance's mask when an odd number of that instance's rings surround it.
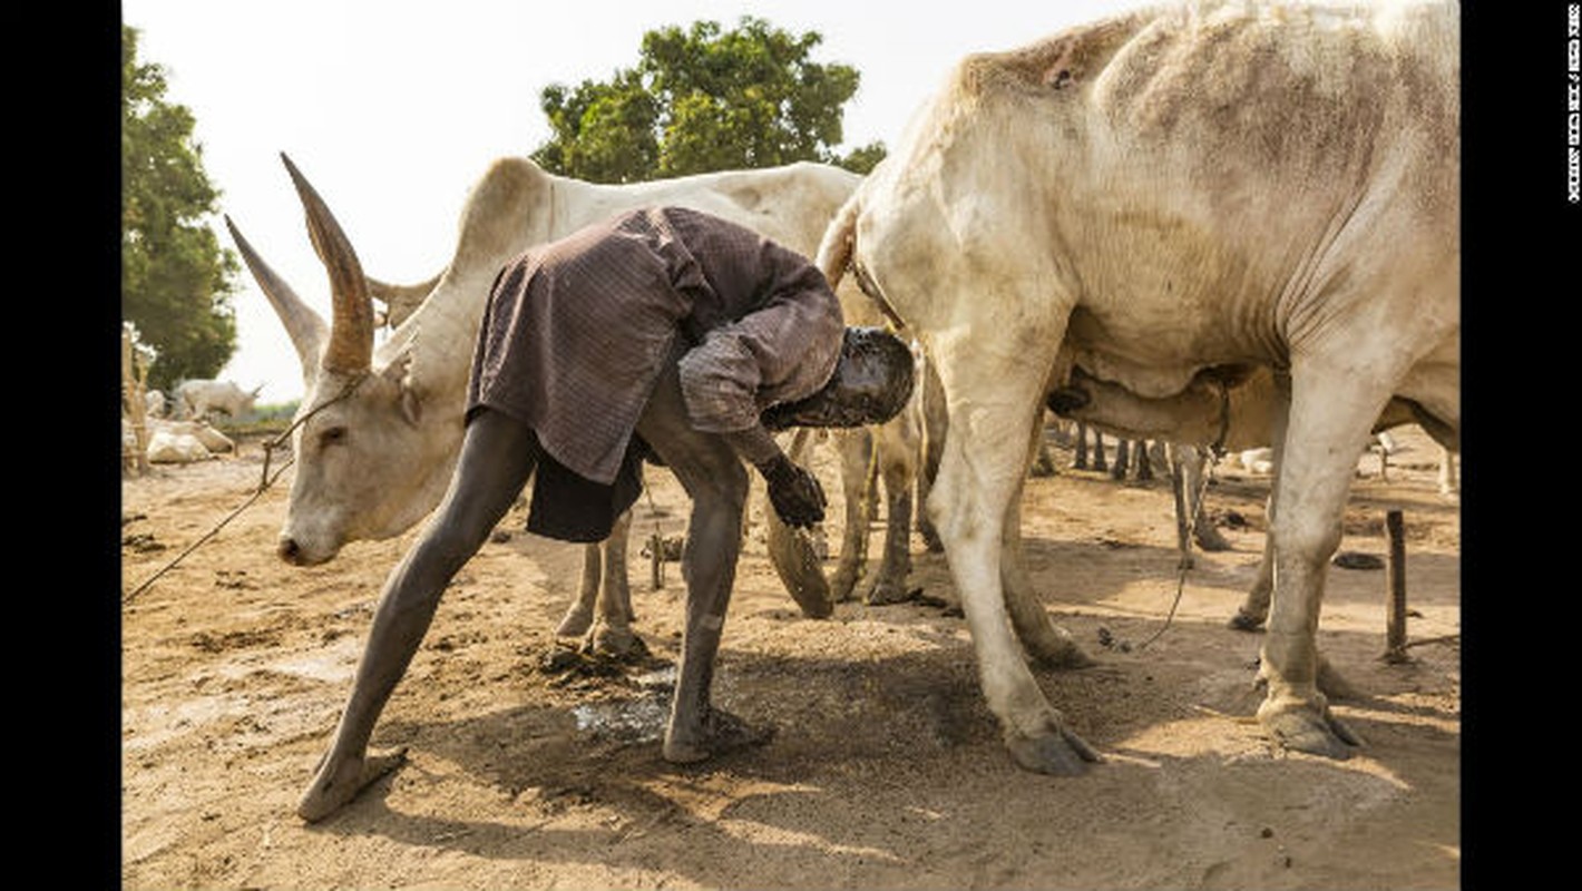
M 883 424 L 911 396 L 911 350 L 883 328 L 846 328 L 840 361 L 818 392 L 763 413 L 764 427 L 861 427 Z

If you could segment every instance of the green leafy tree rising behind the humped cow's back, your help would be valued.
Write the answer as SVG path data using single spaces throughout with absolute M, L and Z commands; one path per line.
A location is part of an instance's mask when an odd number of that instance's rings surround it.
M 818 32 L 793 35 L 744 16 L 642 36 L 634 68 L 539 95 L 552 138 L 533 152 L 546 169 L 590 182 L 638 182 L 717 169 L 824 161 L 869 173 L 883 142 L 848 155 L 842 106 L 856 68 L 812 60 Z

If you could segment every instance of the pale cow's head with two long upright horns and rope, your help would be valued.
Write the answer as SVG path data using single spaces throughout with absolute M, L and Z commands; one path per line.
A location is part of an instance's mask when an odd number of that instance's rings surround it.
M 359 538 L 389 538 L 422 519 L 443 494 L 460 426 L 456 400 L 432 399 L 413 375 L 411 337 L 397 332 L 373 350 L 369 283 L 351 242 L 313 187 L 285 158 L 307 214 L 313 248 L 329 272 L 331 324 L 307 307 L 231 234 L 291 334 L 307 391 L 296 416 L 296 478 L 278 552 L 296 565 L 323 563 Z

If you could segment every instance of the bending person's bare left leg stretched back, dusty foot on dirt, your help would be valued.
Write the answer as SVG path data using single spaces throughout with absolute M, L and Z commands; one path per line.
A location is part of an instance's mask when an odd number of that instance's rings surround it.
M 384 582 L 335 741 L 297 802 L 304 820 L 334 813 L 400 764 L 399 753 L 369 756 L 373 723 L 418 652 L 445 587 L 511 508 L 536 461 L 538 440 L 525 424 L 484 410 L 467 426 L 445 500 Z

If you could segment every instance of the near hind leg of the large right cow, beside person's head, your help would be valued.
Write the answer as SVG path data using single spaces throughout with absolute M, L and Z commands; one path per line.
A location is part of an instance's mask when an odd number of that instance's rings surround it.
M 929 513 L 944 540 L 984 698 L 1017 764 L 1077 774 L 1098 755 L 1039 690 L 1012 633 L 1001 587 L 1003 524 L 1027 472 L 1043 369 L 1030 375 L 1024 355 L 984 355 L 968 340 L 932 348 L 930 356 L 940 361 L 951 430 Z

